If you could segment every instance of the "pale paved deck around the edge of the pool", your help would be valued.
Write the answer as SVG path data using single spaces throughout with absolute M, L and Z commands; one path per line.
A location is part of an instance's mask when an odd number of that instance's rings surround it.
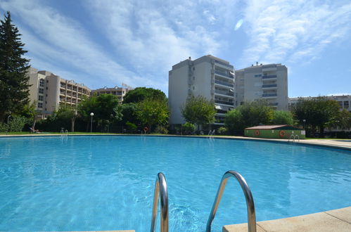
M 74 136 L 83 136 L 91 134 L 74 134 Z M 101 135 L 101 134 L 98 134 Z M 103 134 L 104 135 L 104 134 Z M 107 135 L 107 134 L 106 134 Z M 0 135 L 0 137 L 6 135 Z M 12 135 L 11 135 L 12 136 Z M 60 136 L 59 134 L 32 134 L 20 136 Z M 287 143 L 287 139 L 271 139 L 271 138 L 248 138 L 241 136 L 219 136 L 218 138 L 231 138 L 231 139 L 251 139 L 260 141 L 276 141 Z M 351 150 L 351 139 L 333 140 L 333 139 L 307 139 L 296 141 L 296 143 L 328 146 L 334 148 L 343 148 Z M 351 202 L 350 202 L 351 205 Z M 234 224 L 223 226 L 223 232 L 234 231 L 248 231 L 248 224 Z M 270 221 L 258 221 L 257 232 L 273 232 L 273 231 L 306 231 L 306 232 L 324 232 L 324 231 L 338 231 L 350 232 L 351 231 L 351 207 L 345 207 L 338 210 L 330 210 L 326 212 L 319 212 L 316 214 L 307 214 L 298 217 L 288 217 L 285 219 L 276 219 Z M 106 232 L 106 231 L 104 231 Z M 119 232 L 119 231 L 110 231 Z M 121 231 L 122 232 L 122 231 Z M 125 231 L 132 232 L 132 231 Z

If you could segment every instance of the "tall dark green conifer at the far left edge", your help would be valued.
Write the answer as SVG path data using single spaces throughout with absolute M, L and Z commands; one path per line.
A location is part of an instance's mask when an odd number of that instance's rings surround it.
M 11 24 L 10 12 L 0 20 L 0 122 L 11 112 L 18 112 L 29 102 L 29 61 L 23 58 L 22 34 Z

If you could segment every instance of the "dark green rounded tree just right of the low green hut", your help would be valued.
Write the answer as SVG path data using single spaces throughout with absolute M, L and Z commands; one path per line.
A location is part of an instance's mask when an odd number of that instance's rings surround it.
M 328 127 L 336 121 L 339 113 L 339 105 L 337 101 L 328 100 L 325 97 L 313 99 L 300 98 L 296 107 L 293 109 L 293 115 L 296 120 L 312 128 L 319 128 L 320 136 L 324 136 L 324 127 Z

